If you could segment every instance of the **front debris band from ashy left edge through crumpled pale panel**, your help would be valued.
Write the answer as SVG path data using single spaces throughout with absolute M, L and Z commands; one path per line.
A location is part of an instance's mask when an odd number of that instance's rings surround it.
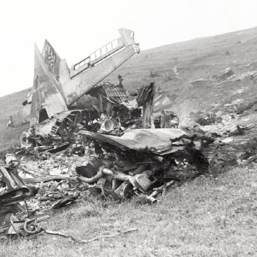
M 107 200 L 138 195 L 154 203 L 168 188 L 209 168 L 204 155 L 195 149 L 199 137 L 177 128 L 132 129 L 121 136 L 84 129 L 73 137 L 77 144 L 66 150 L 55 148 L 58 152 L 54 153 L 42 148 L 30 152 L 28 147 L 27 154 L 33 154 L 34 161 L 20 150 L 17 158 L 6 156 L 8 165 L 1 167 L 0 177 L 1 232 L 40 233 L 35 220 L 26 222 L 26 218 L 62 208 L 86 196 L 90 188 L 100 190 Z M 78 151 L 78 145 L 83 151 Z

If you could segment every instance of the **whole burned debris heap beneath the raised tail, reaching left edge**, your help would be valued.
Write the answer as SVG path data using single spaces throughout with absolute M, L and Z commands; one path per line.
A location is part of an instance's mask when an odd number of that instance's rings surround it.
M 150 83 L 132 98 L 121 81 L 89 91 L 97 106 L 54 114 L 21 135 L 21 148 L 6 154 L 1 168 L 0 231 L 41 233 L 30 215 L 71 204 L 90 188 L 107 200 L 137 196 L 154 203 L 168 188 L 208 170 L 200 151 L 208 137 L 177 128 L 168 95 L 155 94 Z

